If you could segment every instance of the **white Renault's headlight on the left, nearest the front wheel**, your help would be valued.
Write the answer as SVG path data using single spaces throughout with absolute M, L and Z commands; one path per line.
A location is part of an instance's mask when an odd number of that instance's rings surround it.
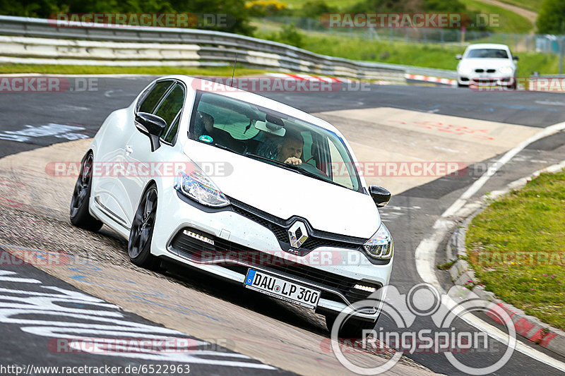
M 174 178 L 174 189 L 206 206 L 224 207 L 230 205 L 230 200 L 225 197 L 220 188 L 196 165 L 188 174 L 183 171 L 177 172 L 177 176 Z

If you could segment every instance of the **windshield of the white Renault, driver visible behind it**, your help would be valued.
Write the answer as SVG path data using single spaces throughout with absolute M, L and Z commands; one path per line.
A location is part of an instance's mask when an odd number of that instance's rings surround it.
M 189 138 L 352 190 L 361 186 L 338 135 L 238 99 L 197 92 Z

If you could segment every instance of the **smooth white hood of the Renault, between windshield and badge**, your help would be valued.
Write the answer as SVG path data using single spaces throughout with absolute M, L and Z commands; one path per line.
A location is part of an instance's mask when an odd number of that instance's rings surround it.
M 307 219 L 316 230 L 370 238 L 381 224 L 370 195 L 202 142 L 185 154 L 204 169 L 222 193 L 282 219 Z M 215 173 L 211 166 L 215 166 Z M 225 173 L 220 172 L 223 166 Z

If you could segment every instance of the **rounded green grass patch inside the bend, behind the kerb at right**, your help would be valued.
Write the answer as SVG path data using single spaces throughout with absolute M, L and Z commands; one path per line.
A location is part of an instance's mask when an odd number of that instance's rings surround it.
M 565 171 L 541 174 L 475 217 L 466 245 L 488 291 L 565 329 Z

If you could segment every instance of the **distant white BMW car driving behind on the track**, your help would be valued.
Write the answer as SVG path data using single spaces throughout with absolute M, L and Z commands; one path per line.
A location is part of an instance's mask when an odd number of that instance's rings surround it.
M 506 44 L 470 44 L 463 56 L 457 55 L 458 86 L 490 85 L 516 89 L 518 56 Z

